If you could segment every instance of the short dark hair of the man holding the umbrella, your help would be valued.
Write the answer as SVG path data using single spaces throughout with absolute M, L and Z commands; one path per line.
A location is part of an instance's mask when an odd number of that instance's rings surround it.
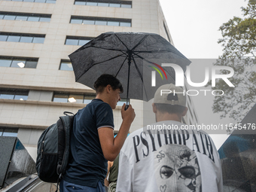
M 103 74 L 95 81 L 93 87 L 96 90 L 96 94 L 102 93 L 107 85 L 111 85 L 113 90 L 119 89 L 123 93 L 123 87 L 120 81 L 114 77 L 114 75 Z

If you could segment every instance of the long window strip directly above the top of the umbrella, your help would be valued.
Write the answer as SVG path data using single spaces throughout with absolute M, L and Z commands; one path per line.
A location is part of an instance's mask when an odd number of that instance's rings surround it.
M 70 23 L 99 25 L 99 26 L 132 26 L 130 19 L 104 18 L 104 17 L 76 17 L 72 16 Z

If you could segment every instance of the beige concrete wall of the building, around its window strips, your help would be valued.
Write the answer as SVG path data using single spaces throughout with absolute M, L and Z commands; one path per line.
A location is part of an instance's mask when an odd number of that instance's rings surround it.
M 0 41 L 1 56 L 38 58 L 36 69 L 0 67 L 0 87 L 29 90 L 26 101 L 0 99 L 0 126 L 20 128 L 18 137 L 34 158 L 41 132 L 55 123 L 63 111 L 76 113 L 85 106 L 52 102 L 53 91 L 94 93 L 90 88 L 75 83 L 73 72 L 59 70 L 61 59 L 69 59 L 69 54 L 79 48 L 65 45 L 66 35 L 93 38 L 102 32 L 153 32 L 168 39 L 158 0 L 136 0 L 133 1 L 133 8 L 74 5 L 74 0 L 56 0 L 56 4 L 0 1 L 0 11 L 51 14 L 50 23 L 0 20 L 1 32 L 45 35 L 44 44 Z M 73 24 L 69 23 L 71 15 L 131 19 L 132 27 Z M 133 132 L 142 127 L 143 115 L 142 102 L 132 99 L 131 104 L 136 110 L 136 119 L 130 129 Z M 114 110 L 114 130 L 119 130 L 121 121 L 120 107 L 117 107 Z

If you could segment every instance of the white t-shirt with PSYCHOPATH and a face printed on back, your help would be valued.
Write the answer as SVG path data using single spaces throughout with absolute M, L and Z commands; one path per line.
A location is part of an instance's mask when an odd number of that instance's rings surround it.
M 161 121 L 126 138 L 117 192 L 222 192 L 221 163 L 212 139 L 197 130 L 180 130 L 182 125 Z

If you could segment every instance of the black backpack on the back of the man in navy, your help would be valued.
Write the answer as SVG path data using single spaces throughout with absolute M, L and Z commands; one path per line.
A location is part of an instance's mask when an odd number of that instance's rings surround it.
M 49 126 L 38 140 L 36 170 L 42 181 L 58 183 L 69 163 L 70 136 L 75 114 L 64 111 L 66 116 L 59 117 Z M 68 115 L 72 114 L 72 115 Z

